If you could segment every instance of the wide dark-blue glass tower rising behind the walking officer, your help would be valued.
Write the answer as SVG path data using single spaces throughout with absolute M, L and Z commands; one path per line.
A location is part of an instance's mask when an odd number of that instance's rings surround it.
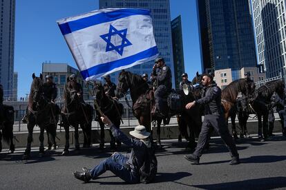
M 248 0 L 197 0 L 202 72 L 256 67 L 254 32 Z

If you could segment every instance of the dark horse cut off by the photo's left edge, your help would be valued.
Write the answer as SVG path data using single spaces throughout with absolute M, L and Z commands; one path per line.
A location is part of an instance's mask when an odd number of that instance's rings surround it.
M 14 125 L 14 108 L 9 105 L 3 105 L 3 125 L 0 125 L 0 152 L 2 151 L 2 137 L 3 140 L 10 145 L 8 154 L 12 154 L 15 151 L 15 145 L 13 143 L 13 125 Z

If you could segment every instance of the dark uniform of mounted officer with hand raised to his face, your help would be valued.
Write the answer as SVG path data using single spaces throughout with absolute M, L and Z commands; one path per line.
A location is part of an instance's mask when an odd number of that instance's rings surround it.
M 170 67 L 164 65 L 158 71 L 153 70 L 153 76 L 156 77 L 157 88 L 154 92 L 155 107 L 162 113 L 163 97 L 172 89 L 172 73 Z

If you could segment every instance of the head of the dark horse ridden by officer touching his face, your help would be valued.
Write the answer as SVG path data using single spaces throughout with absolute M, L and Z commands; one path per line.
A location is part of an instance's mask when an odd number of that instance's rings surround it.
M 130 88 L 130 78 L 128 76 L 128 72 L 125 72 L 122 70 L 118 76 L 118 85 L 117 85 L 117 98 L 122 98 L 124 97 L 128 89 Z

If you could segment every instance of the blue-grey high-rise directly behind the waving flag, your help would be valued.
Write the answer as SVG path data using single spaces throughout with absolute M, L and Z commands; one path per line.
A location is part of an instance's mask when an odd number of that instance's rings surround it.
M 164 57 L 166 65 L 171 68 L 172 83 L 175 87 L 169 0 L 99 0 L 99 8 L 144 8 L 151 10 L 155 41 L 160 56 Z M 153 65 L 154 62 L 149 61 L 135 65 L 128 70 L 136 74 L 151 74 Z M 117 75 L 118 72 L 111 74 L 111 81 L 117 83 Z

